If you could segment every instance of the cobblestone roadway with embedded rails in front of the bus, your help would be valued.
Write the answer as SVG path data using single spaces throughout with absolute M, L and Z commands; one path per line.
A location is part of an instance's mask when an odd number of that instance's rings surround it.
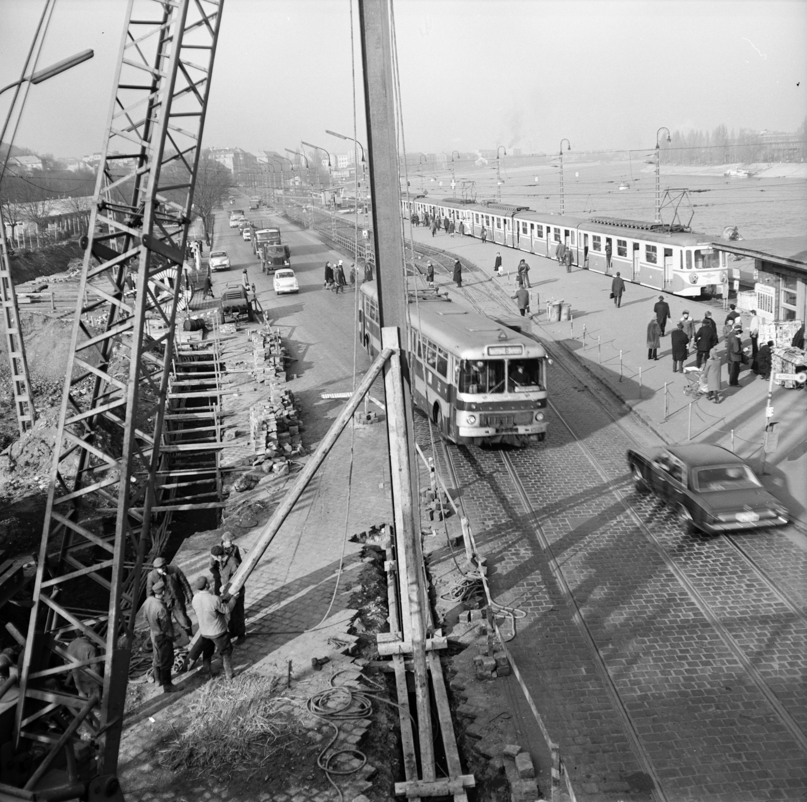
M 450 275 L 450 254 L 416 250 Z M 512 314 L 491 282 L 468 283 L 458 292 L 480 312 Z M 570 686 L 563 669 L 539 658 L 533 680 L 559 695 L 550 721 L 572 745 L 617 733 L 625 741 L 616 755 L 581 747 L 587 755 L 579 762 L 605 779 L 573 778 L 575 788 L 617 792 L 627 782 L 635 791 L 638 783 L 653 787 L 655 799 L 672 800 L 712 798 L 710 787 L 713 798 L 730 799 L 720 789 L 734 787 L 733 771 L 761 760 L 759 771 L 746 768 L 737 792 L 782 798 L 805 783 L 803 769 L 791 765 L 807 751 L 803 552 L 777 532 L 684 535 L 671 510 L 632 487 L 625 450 L 642 443 L 625 410 L 581 382 L 560 347 L 549 350 L 565 380 L 553 388 L 546 443 L 518 451 L 444 444 L 434 456 L 482 529 L 494 592 L 528 613 L 516 661 L 544 653 L 543 635 L 562 642 L 574 629 L 575 648 L 558 650 L 567 670 L 596 675 L 597 687 L 583 688 L 599 717 L 587 726 L 570 699 L 579 682 Z M 562 626 L 547 624 L 555 605 Z M 773 743 L 788 758 L 777 757 Z M 700 766 L 681 775 L 672 756 L 688 753 Z M 615 761 L 624 766 L 618 776 L 608 771 Z

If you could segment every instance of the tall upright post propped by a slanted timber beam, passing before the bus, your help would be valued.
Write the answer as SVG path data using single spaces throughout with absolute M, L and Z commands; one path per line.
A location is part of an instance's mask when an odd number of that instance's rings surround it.
M 418 741 L 424 781 L 435 779 L 432 713 L 429 703 L 429 672 L 425 640 L 426 594 L 422 585 L 423 555 L 416 485 L 414 419 L 412 418 L 412 375 L 406 359 L 408 343 L 407 287 L 403 269 L 403 232 L 400 213 L 400 174 L 395 137 L 395 103 L 390 44 L 389 0 L 358 0 L 359 27 L 364 65 L 364 98 L 367 145 L 370 152 L 370 187 L 373 204 L 373 239 L 378 282 L 379 325 L 398 330 L 399 355 L 384 367 L 387 393 L 387 436 L 395 512 L 395 537 L 399 561 L 406 560 L 407 573 L 399 573 L 404 610 L 411 619 L 412 662 L 415 675 Z M 385 331 L 385 334 L 387 332 Z M 393 332 L 394 334 L 394 332 Z M 383 342 L 388 346 L 389 342 Z M 397 361 L 399 360 L 399 376 Z M 399 381 L 399 380 L 402 380 Z M 402 389 L 398 396 L 396 388 Z M 407 580 L 407 587 L 403 581 Z

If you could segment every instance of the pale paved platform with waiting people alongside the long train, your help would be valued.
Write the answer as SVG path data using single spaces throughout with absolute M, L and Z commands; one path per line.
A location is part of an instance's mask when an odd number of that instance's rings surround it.
M 408 224 L 406 231 L 409 236 Z M 762 472 L 767 382 L 759 380 L 748 367 L 743 366 L 740 373 L 741 386 L 728 387 L 728 371 L 724 359 L 723 400 L 719 405 L 706 401 L 705 397 L 693 400 L 686 395 L 684 387 L 688 380 L 682 374 L 672 372 L 670 325 L 667 325 L 667 334 L 661 341 L 659 361 L 647 359 L 646 329 L 653 313 L 653 305 L 661 294 L 658 290 L 626 283 L 621 309 L 617 309 L 608 299 L 611 276 L 577 267 L 567 273 L 553 259 L 490 242 L 483 245 L 474 237 L 450 237 L 445 232 L 432 237 L 431 232 L 422 227 L 413 228 L 412 233 L 417 242 L 455 253 L 461 261 L 466 259 L 475 263 L 491 285 L 499 288 L 504 298 L 516 292 L 516 266 L 521 258 L 525 258 L 530 267 L 529 280 L 533 298 L 535 292 L 540 296 L 540 305 L 533 300 L 532 306 L 534 334 L 541 338 L 550 338 L 573 352 L 587 370 L 603 380 L 667 443 L 684 443 L 691 436 L 693 440 L 734 447 L 734 451 L 749 460 L 758 474 Z M 504 269 L 509 270 L 509 276 L 493 277 L 493 262 L 497 252 L 501 254 Z M 454 287 L 450 277 L 441 275 L 439 271 L 435 278 L 449 290 Z M 479 279 L 475 275 L 466 275 L 463 286 L 477 280 Z M 709 310 L 717 321 L 718 330 L 722 330 L 725 313 L 721 304 L 663 294 L 670 304 L 673 328 L 684 309 L 688 309 L 696 321 L 700 321 Z M 551 299 L 571 302 L 571 321 L 547 322 L 546 301 Z M 516 315 L 515 301 L 511 303 L 513 314 Z M 742 317 L 743 328 L 747 330 L 748 316 L 743 314 Z M 746 339 L 744 344 L 750 345 L 750 341 Z M 722 338 L 719 350 L 725 354 Z M 685 364 L 694 365 L 694 357 Z M 773 420 L 781 424 L 779 447 L 775 453 L 765 455 L 764 475 L 761 477 L 767 489 L 788 506 L 803 531 L 807 530 L 805 402 L 807 396 L 804 391 L 774 385 L 771 403 L 775 409 Z

